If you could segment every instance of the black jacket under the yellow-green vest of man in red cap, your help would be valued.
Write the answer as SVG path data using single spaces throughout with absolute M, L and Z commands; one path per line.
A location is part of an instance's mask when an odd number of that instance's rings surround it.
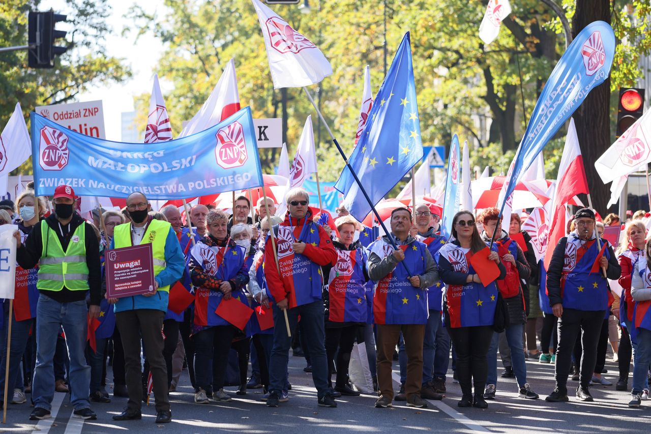
M 88 284 L 90 287 L 90 304 L 100 305 L 102 291 L 102 273 L 100 271 L 100 242 L 97 240 L 95 230 L 86 223 L 77 213 L 74 213 L 70 223 L 60 225 L 56 215 L 50 215 L 47 219 L 35 224 L 33 230 L 16 251 L 16 260 L 24 269 L 34 268 L 40 260 L 43 251 L 43 240 L 41 236 L 41 225 L 48 224 L 52 230 L 59 236 L 59 242 L 64 251 L 68 249 L 70 238 L 77 227 L 85 224 L 85 241 L 86 241 L 86 264 L 88 265 Z M 63 232 L 63 233 L 61 233 Z M 70 291 L 65 286 L 61 291 L 40 291 L 51 299 L 59 303 L 71 303 L 86 299 L 88 291 Z

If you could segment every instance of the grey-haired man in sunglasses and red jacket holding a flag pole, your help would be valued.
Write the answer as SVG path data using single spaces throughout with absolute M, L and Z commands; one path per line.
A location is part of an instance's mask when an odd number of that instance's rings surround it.
M 285 388 L 285 375 L 292 338 L 287 336 L 283 310 L 291 330 L 301 317 L 301 332 L 310 342 L 312 380 L 318 391 L 318 405 L 337 407 L 328 387 L 328 366 L 324 342 L 324 305 L 322 301 L 322 265 L 337 260 L 337 252 L 322 226 L 312 221 L 309 195 L 302 188 L 286 194 L 288 211 L 284 221 L 273 226 L 275 250 L 268 237 L 264 247 L 265 277 L 275 300 L 273 306 L 273 349 L 270 359 L 268 407 L 278 407 Z M 277 256 L 277 257 L 276 257 Z M 277 261 L 277 262 L 276 262 Z M 280 272 L 279 272 L 280 271 Z

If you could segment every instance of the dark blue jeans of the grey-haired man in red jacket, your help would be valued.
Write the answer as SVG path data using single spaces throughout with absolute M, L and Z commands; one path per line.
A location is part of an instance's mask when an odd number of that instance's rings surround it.
M 322 398 L 329 390 L 327 384 L 328 369 L 326 347 L 326 331 L 324 327 L 324 305 L 320 300 L 296 306 L 287 310 L 290 330 L 296 330 L 298 316 L 301 316 L 301 332 L 305 332 L 305 339 L 309 342 L 310 361 L 312 362 L 312 381 Z M 292 338 L 287 336 L 283 312 L 273 305 L 273 349 L 269 362 L 269 391 L 281 393 L 286 386 L 287 364 L 289 362 L 289 349 Z M 305 350 L 305 348 L 304 348 Z

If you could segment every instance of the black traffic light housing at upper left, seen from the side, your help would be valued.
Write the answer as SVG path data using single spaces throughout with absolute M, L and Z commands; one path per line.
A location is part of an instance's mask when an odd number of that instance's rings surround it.
M 53 68 L 54 57 L 62 55 L 67 47 L 55 46 L 58 38 L 64 38 L 66 31 L 55 29 L 60 21 L 65 21 L 66 16 L 48 12 L 29 12 L 27 20 L 27 43 L 30 48 L 27 52 L 27 64 L 30 68 Z

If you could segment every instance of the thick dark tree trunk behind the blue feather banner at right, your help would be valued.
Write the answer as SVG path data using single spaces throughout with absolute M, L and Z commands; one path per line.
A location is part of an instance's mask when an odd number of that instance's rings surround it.
M 609 0 L 577 0 L 576 11 L 572 19 L 572 36 L 577 34 L 592 21 L 602 20 L 611 22 Z M 601 215 L 606 213 L 606 205 L 610 198 L 610 187 L 605 185 L 596 169 L 594 162 L 602 156 L 611 145 L 610 142 L 610 78 L 592 89 L 581 107 L 574 112 L 576 133 L 583 154 L 585 175 L 590 187 L 592 206 Z M 581 200 L 585 199 L 581 198 Z M 585 201 L 584 201 L 585 202 Z M 587 205 L 587 202 L 585 202 Z

